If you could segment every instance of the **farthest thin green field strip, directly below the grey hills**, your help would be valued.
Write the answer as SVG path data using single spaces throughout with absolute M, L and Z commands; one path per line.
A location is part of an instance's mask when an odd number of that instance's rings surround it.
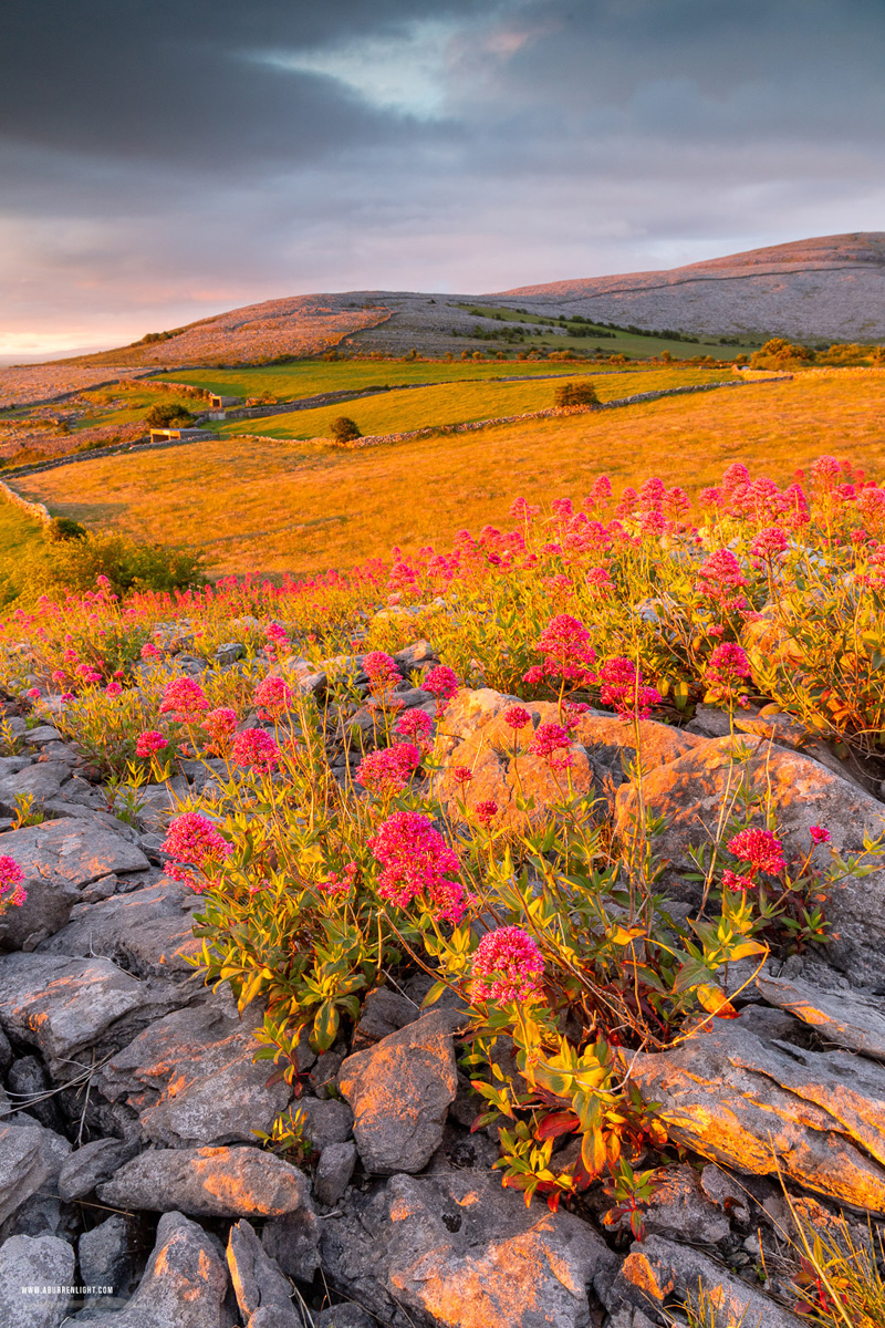
M 235 397 L 269 393 L 279 401 L 293 401 L 318 392 L 360 392 L 362 388 L 421 382 L 488 382 L 536 374 L 549 378 L 593 369 L 592 363 L 569 365 L 561 360 L 454 360 L 451 364 L 446 360 L 303 360 L 249 369 L 182 369 L 179 373 L 159 374 L 157 381 L 186 382 Z M 602 365 L 598 372 L 612 371 Z

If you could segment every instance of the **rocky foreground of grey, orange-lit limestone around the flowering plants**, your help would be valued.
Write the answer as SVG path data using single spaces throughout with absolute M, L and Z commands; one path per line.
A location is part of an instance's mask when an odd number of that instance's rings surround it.
M 403 706 L 430 713 L 406 673 L 431 667 L 431 649 L 417 643 L 397 663 Z M 322 692 L 321 664 L 300 673 Z M 458 798 L 524 814 L 495 736 L 512 701 L 480 689 L 450 705 L 437 791 L 452 815 Z M 535 726 L 548 717 L 549 703 L 523 704 Z M 1 1324 L 649 1328 L 701 1282 L 722 1324 L 746 1313 L 747 1328 L 787 1328 L 801 1321 L 789 1308 L 797 1222 L 828 1232 L 844 1211 L 862 1242 L 885 1219 L 885 869 L 837 891 L 825 951 L 770 961 L 747 987 L 752 969 L 735 965 L 738 1019 L 625 1053 L 685 1150 L 632 1242 L 600 1222 L 598 1186 L 559 1212 L 502 1187 L 496 1131 L 471 1133 L 482 1104 L 459 1066 L 463 1007 L 443 996 L 422 1011 L 421 972 L 373 991 L 324 1054 L 303 1040 L 301 1163 L 261 1147 L 256 1131 L 292 1089 L 253 1060 L 261 1012 L 238 1017 L 227 988 L 207 989 L 188 964 L 199 898 L 162 870 L 167 788 L 149 788 L 130 825 L 58 730 L 7 710 L 23 750 L 0 758 L 0 854 L 23 866 L 28 899 L 0 919 Z M 368 712 L 354 708 L 353 724 L 370 726 Z M 797 750 L 789 725 L 740 724 L 748 778 L 771 789 L 787 842 L 825 825 L 851 855 L 878 833 L 870 781 L 823 746 Z M 616 826 L 637 797 L 632 741 L 597 710 L 572 745 L 576 786 L 608 799 Z M 686 853 L 715 817 L 734 741 L 710 706 L 683 730 L 642 725 L 674 910 L 698 903 Z M 531 760 L 519 778 L 543 817 L 549 769 Z M 475 778 L 456 793 L 464 766 Z M 186 762 L 174 791 L 210 777 Z M 11 829 L 21 794 L 42 823 Z

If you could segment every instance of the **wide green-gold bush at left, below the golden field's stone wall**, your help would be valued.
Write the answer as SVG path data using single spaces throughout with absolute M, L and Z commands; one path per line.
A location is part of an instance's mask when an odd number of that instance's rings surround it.
M 72 522 L 76 525 L 76 522 Z M 129 535 L 86 534 L 66 537 L 52 550 L 50 584 L 73 591 L 94 590 L 106 576 L 117 595 L 127 591 L 186 590 L 203 586 L 203 554 L 166 544 L 139 544 Z

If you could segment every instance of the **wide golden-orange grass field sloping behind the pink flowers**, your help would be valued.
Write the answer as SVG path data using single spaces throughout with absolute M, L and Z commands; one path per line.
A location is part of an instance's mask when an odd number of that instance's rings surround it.
M 849 369 L 362 452 L 224 438 L 19 486 L 93 529 L 202 547 L 219 572 L 310 574 L 393 544 L 444 547 L 463 527 L 506 523 L 517 494 L 580 499 L 600 473 L 616 487 L 657 474 L 691 493 L 732 461 L 784 482 L 831 453 L 878 478 L 884 406 L 885 371 Z

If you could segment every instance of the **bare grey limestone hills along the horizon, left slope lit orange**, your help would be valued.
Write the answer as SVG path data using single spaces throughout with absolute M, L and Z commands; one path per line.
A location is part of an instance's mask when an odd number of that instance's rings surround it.
M 670 328 L 718 339 L 885 341 L 885 231 L 824 235 L 655 272 L 517 286 L 482 296 L 346 291 L 264 300 L 200 319 L 77 365 L 180 368 L 255 364 L 346 351 L 427 355 L 470 344 L 476 319 L 456 305 L 508 304 L 529 315 Z M 475 343 L 475 347 L 482 343 Z

